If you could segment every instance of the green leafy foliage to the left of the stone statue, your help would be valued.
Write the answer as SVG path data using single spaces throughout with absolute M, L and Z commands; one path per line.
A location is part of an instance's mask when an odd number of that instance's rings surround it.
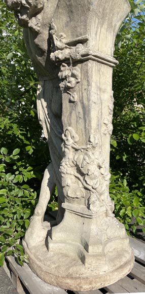
M 22 30 L 2 1 L 0 33 L 0 266 L 14 253 L 22 265 L 27 256 L 17 240 L 28 228 L 50 156 L 37 116 L 37 77 Z

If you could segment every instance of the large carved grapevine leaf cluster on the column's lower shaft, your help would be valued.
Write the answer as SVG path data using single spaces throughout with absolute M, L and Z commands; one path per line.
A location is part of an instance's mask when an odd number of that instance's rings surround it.
M 65 156 L 61 162 L 62 186 L 69 202 L 85 198 L 88 209 L 93 213 L 107 211 L 112 215 L 114 206 L 106 194 L 110 173 L 98 151 L 98 137 L 91 135 L 86 146 L 79 146 L 79 137 L 74 129 L 67 127 L 63 134 Z

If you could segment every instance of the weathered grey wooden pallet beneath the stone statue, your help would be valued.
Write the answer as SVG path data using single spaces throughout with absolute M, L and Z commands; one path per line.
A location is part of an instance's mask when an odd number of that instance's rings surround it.
M 113 285 L 92 291 L 74 291 L 71 294 L 144 293 L 145 294 L 145 244 L 130 238 L 135 264 L 130 274 Z M 14 256 L 7 256 L 4 269 L 19 294 L 66 294 L 63 290 L 42 281 L 28 265 L 21 267 Z M 70 293 L 70 291 L 68 291 Z

